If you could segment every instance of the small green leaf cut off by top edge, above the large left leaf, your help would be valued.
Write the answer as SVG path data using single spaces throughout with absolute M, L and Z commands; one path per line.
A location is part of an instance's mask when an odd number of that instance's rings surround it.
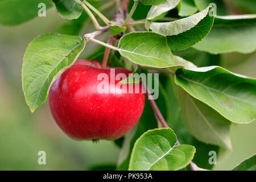
M 82 14 L 82 7 L 79 3 L 71 0 L 52 0 L 59 14 L 64 19 L 77 19 Z

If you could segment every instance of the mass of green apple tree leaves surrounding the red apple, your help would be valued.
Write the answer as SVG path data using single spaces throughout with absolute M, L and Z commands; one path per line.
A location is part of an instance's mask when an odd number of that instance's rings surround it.
M 209 6 L 212 2 L 216 3 L 217 10 Z M 32 112 L 46 101 L 52 82 L 76 61 L 82 51 L 86 51 L 90 40 L 95 41 L 94 38 L 101 34 L 115 35 L 118 39 L 118 43 L 110 47 L 114 49 L 109 58 L 110 65 L 125 68 L 137 65 L 136 72 L 155 70 L 162 73 L 158 85 L 155 85 L 159 86 L 156 104 L 172 129 L 161 128 L 146 101 L 137 126 L 123 139 L 115 141 L 122 147 L 117 169 L 189 169 L 192 160 L 197 166 L 210 169 L 212 166 L 207 164 L 209 156 L 205 152 L 218 151 L 219 148 L 232 150 L 230 125 L 255 121 L 255 78 L 238 75 L 215 63 L 218 55 L 223 53 L 255 51 L 256 14 L 230 15 L 229 5 L 224 1 L 209 0 L 141 0 L 130 3 L 114 0 L 2 0 L 0 23 L 13 26 L 35 18 L 39 3 L 44 3 L 46 10 L 55 8 L 69 23 L 64 24 L 60 32 L 39 35 L 28 44 L 24 53 L 22 86 Z M 129 14 L 123 12 L 120 3 L 126 3 Z M 100 13 L 107 7 L 120 8 L 119 13 L 133 19 L 125 21 L 125 17 L 115 17 L 108 22 Z M 234 1 L 232 7 L 245 14 L 256 13 L 255 1 Z M 89 23 L 89 18 L 98 30 L 78 36 L 85 22 Z M 106 24 L 97 26 L 97 19 Z M 92 35 L 93 39 L 90 39 Z M 108 47 L 102 42 L 97 43 Z M 215 57 L 204 60 L 204 67 L 196 66 L 197 60 L 187 61 L 177 56 L 186 49 L 207 52 L 209 57 Z M 101 48 L 85 58 L 102 61 L 103 55 L 104 48 Z M 234 170 L 253 170 L 255 163 L 254 155 Z M 199 167 L 197 169 L 201 169 Z

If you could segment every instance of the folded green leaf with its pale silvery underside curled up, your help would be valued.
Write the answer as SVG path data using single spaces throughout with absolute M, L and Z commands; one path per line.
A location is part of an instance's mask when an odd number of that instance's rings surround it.
M 167 43 L 172 51 L 181 51 L 207 36 L 214 20 L 214 17 L 208 14 L 210 9 L 208 7 L 195 15 L 174 22 L 152 23 L 150 29 L 167 36 Z

